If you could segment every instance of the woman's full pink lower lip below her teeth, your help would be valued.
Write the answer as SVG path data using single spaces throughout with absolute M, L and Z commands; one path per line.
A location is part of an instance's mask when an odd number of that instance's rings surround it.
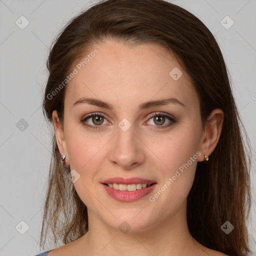
M 102 183 L 101 183 L 102 184 Z M 155 187 L 156 183 L 147 186 L 145 188 L 136 189 L 134 191 L 127 190 L 117 190 L 107 185 L 102 184 L 106 192 L 114 199 L 122 202 L 131 202 L 142 198 L 143 196 L 149 194 Z

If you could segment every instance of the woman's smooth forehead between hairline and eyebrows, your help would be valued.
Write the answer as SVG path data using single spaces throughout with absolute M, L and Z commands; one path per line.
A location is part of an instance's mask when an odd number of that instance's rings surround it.
M 162 46 L 113 40 L 93 46 L 76 62 L 77 73 L 67 84 L 65 105 L 94 97 L 125 109 L 134 102 L 166 96 L 175 96 L 185 105 L 198 104 L 190 76 Z

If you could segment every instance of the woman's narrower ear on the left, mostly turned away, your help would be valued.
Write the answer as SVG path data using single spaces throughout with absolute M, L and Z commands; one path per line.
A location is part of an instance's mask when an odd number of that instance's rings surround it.
M 54 110 L 52 112 L 52 120 L 54 124 L 54 130 L 55 130 L 55 136 L 56 136 L 56 142 L 58 145 L 58 150 L 60 154 L 65 154 L 66 158 L 68 158 L 67 150 L 66 150 L 66 142 L 65 142 L 65 135 L 63 127 L 61 126 L 61 123 L 58 118 L 57 111 Z

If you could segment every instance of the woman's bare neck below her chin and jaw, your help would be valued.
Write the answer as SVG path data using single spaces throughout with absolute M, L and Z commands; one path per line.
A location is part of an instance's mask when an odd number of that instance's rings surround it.
M 199 255 L 205 249 L 189 233 L 186 200 L 168 219 L 143 231 L 121 232 L 88 211 L 89 231 L 83 236 L 83 255 Z M 120 221 L 121 223 L 121 221 Z

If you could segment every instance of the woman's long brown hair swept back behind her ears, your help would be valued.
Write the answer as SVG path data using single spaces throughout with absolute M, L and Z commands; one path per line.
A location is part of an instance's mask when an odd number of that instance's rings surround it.
M 225 62 L 208 28 L 187 10 L 164 0 L 100 1 L 73 17 L 52 42 L 47 59 L 49 76 L 43 113 L 52 128 L 53 153 L 40 247 L 45 244 L 49 228 L 55 244 L 60 239 L 64 244 L 69 243 L 88 230 L 87 208 L 66 178 L 70 167 L 62 167 L 59 161 L 52 111 L 57 110 L 63 124 L 63 99 L 68 86 L 68 82 L 63 85 L 63 81 L 94 43 L 106 39 L 133 45 L 152 42 L 165 47 L 192 78 L 199 96 L 202 124 L 214 108 L 223 110 L 219 141 L 207 164 L 197 162 L 187 197 L 188 228 L 191 235 L 208 248 L 232 256 L 251 252 L 246 227 L 251 205 L 251 149 Z M 61 83 L 63 86 L 59 86 Z M 229 234 L 220 228 L 227 220 L 234 226 Z

